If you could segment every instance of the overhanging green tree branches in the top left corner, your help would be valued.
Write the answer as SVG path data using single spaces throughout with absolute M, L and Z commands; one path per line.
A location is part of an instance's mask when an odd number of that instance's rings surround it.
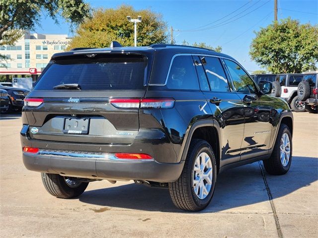
M 83 0 L 0 0 L 0 42 L 7 31 L 33 30 L 43 13 L 48 14 L 57 22 L 61 15 L 71 25 L 82 22 L 84 17 L 90 16 L 90 8 Z M 12 31 L 13 30 L 13 31 Z M 10 39 L 14 41 L 17 36 Z

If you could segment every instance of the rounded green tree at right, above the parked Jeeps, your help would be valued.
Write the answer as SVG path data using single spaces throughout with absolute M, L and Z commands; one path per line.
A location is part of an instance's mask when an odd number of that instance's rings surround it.
M 272 73 L 300 73 L 318 62 L 318 27 L 290 18 L 255 32 L 250 56 Z

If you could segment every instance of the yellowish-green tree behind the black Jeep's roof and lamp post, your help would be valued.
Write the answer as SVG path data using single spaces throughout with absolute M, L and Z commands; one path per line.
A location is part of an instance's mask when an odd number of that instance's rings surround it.
M 130 5 L 118 8 L 99 8 L 93 11 L 92 18 L 86 19 L 77 29 L 68 49 L 76 47 L 109 47 L 111 41 L 118 41 L 123 46 L 134 45 L 134 23 L 127 16 L 137 18 L 137 46 L 149 46 L 155 43 L 166 43 L 166 23 L 159 13 L 149 9 L 135 10 Z

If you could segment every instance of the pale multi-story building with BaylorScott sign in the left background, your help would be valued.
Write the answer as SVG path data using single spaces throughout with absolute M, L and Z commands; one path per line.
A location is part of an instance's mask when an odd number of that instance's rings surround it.
M 38 75 L 53 54 L 65 51 L 71 39 L 68 35 L 49 35 L 26 31 L 14 46 L 0 46 L 1 75 Z

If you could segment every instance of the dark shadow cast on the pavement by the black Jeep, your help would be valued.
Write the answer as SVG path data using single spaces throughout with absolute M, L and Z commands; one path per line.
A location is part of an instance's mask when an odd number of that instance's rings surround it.
M 292 167 L 286 175 L 270 176 L 265 172 L 266 178 L 271 180 L 270 189 L 273 198 L 285 196 L 304 186 L 310 186 L 318 179 L 317 165 L 317 158 L 293 157 Z M 288 186 L 286 186 L 286 180 L 289 181 Z M 285 183 L 281 184 L 284 181 Z M 168 189 L 150 188 L 133 183 L 86 191 L 79 197 L 79 200 L 107 207 L 182 212 L 174 207 Z M 261 170 L 256 162 L 220 174 L 212 202 L 201 213 L 219 212 L 267 200 Z

